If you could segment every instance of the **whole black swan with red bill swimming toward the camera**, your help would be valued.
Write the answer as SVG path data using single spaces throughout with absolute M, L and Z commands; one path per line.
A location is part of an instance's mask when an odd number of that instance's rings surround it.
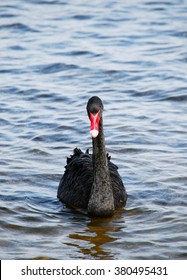
M 92 216 L 109 217 L 114 209 L 124 206 L 127 193 L 105 150 L 103 103 L 97 96 L 88 100 L 93 155 L 75 149 L 67 158 L 64 175 L 58 187 L 58 198 L 69 207 L 87 209 Z

